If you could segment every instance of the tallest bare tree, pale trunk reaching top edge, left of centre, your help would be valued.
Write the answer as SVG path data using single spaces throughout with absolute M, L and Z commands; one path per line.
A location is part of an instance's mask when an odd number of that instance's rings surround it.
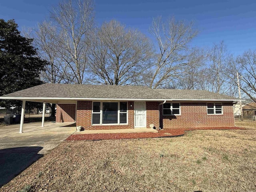
M 58 4 L 51 12 L 56 28 L 56 51 L 68 65 L 68 82 L 82 84 L 88 67 L 88 40 L 94 24 L 91 0 L 68 0 Z

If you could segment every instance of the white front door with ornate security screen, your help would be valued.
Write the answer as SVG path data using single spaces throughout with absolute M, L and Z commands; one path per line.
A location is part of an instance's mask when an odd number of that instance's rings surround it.
M 145 102 L 134 102 L 134 127 L 146 127 Z

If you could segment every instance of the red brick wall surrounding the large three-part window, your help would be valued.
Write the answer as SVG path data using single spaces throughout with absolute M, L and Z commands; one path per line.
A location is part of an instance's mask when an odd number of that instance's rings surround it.
M 85 130 L 103 129 L 133 129 L 134 128 L 134 102 L 128 102 L 127 125 L 92 125 L 92 101 L 78 101 L 76 111 L 76 126 Z

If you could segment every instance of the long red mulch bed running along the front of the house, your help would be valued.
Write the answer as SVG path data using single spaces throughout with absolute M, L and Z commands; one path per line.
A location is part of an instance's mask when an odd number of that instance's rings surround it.
M 185 131 L 191 130 L 225 130 L 225 129 L 244 129 L 239 127 L 203 127 L 203 128 L 188 128 L 188 129 L 165 129 L 159 130 L 158 133 L 102 133 L 102 134 L 73 134 L 66 140 L 81 141 L 81 140 L 114 140 L 114 139 L 138 139 L 138 138 L 158 138 L 158 137 L 174 137 L 182 136 Z

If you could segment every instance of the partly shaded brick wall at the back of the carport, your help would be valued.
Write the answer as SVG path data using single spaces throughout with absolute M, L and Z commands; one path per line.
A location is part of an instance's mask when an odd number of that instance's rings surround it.
M 76 104 L 57 104 L 56 122 L 75 122 Z

